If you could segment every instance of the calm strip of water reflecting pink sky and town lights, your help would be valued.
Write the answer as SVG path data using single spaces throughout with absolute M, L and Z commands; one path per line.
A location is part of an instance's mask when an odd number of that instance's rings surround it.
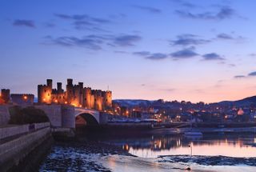
M 201 138 L 186 138 L 183 135 L 158 135 L 139 138 L 111 139 L 114 145 L 122 146 L 130 154 L 142 158 L 156 158 L 160 155 L 190 154 L 193 155 L 256 157 L 256 147 L 247 144 L 255 143 L 251 134 L 204 134 Z

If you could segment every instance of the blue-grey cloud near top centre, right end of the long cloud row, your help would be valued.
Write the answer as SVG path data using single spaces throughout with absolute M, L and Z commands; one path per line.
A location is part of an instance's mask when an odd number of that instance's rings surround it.
M 142 37 L 135 34 L 126 34 L 114 37 L 114 44 L 117 46 L 134 46 L 135 42 L 139 42 Z

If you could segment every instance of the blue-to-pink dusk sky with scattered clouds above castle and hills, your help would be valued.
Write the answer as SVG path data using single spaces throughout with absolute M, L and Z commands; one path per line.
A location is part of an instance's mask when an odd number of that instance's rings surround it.
M 254 0 L 0 0 L 0 88 L 46 78 L 114 99 L 219 102 L 256 94 Z

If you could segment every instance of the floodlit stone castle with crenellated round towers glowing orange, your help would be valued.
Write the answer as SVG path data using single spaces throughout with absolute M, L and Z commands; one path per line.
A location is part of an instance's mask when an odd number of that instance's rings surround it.
M 53 89 L 53 80 L 47 79 L 46 85 L 38 85 L 38 103 L 69 104 L 94 110 L 109 110 L 112 107 L 112 92 L 110 90 L 91 90 L 83 87 L 83 82 L 73 85 L 73 79 L 67 79 L 66 91 L 62 83 L 57 82 L 57 89 Z

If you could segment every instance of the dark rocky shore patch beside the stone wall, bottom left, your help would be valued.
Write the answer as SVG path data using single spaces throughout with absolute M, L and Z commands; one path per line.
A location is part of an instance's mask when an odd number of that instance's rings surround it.
M 74 140 L 55 142 L 39 171 L 107 171 L 111 170 L 98 162 L 99 158 L 108 155 L 134 156 L 118 146 L 106 143 Z

